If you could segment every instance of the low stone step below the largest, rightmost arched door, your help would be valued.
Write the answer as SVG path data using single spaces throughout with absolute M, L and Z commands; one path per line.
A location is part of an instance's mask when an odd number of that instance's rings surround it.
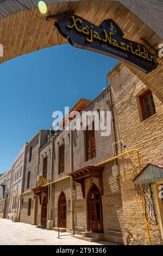
M 104 240 L 103 233 L 96 233 L 91 231 L 81 232 L 81 235 L 75 235 L 77 239 L 89 241 L 89 242 L 97 242 Z

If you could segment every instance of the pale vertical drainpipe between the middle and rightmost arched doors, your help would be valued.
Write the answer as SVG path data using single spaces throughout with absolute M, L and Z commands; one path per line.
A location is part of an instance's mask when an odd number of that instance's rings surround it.
M 73 172 L 73 137 L 70 129 L 70 170 Z M 71 211 L 71 230 L 73 230 L 73 178 L 70 177 L 70 211 Z

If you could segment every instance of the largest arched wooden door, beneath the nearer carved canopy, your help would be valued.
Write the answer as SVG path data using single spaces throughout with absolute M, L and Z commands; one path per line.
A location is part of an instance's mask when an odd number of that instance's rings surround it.
M 101 192 L 98 187 L 93 184 L 88 195 L 88 216 L 89 231 L 103 232 L 103 213 Z

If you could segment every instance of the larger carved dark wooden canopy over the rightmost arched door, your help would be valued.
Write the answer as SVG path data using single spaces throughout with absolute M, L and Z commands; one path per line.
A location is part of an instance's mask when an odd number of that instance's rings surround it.
M 102 172 L 104 170 L 104 166 L 85 166 L 78 170 L 75 170 L 68 175 L 73 177 L 73 181 L 79 182 L 82 187 L 83 198 L 85 198 L 85 182 L 86 178 L 97 178 L 99 181 L 99 189 L 103 194 L 103 176 Z

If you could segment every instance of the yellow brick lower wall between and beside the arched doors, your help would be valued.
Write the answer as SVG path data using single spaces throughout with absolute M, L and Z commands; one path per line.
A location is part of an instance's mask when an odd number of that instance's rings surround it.
M 103 171 L 103 228 L 105 235 L 124 236 L 124 217 L 122 209 L 122 196 L 120 190 L 120 181 L 111 172 L 112 163 L 105 164 Z M 93 178 L 93 183 L 99 188 L 99 181 Z M 74 227 L 78 231 L 89 230 L 87 215 L 87 197 L 91 188 L 90 179 L 85 179 L 85 198 L 83 198 L 82 188 L 76 182 L 76 190 L 73 191 L 74 206 Z M 70 211 L 70 179 L 57 182 L 54 185 L 54 220 L 55 227 L 58 226 L 58 199 L 61 192 L 65 193 L 67 211 Z M 66 228 L 71 228 L 70 214 L 67 213 Z M 116 233 L 114 232 L 116 231 Z

